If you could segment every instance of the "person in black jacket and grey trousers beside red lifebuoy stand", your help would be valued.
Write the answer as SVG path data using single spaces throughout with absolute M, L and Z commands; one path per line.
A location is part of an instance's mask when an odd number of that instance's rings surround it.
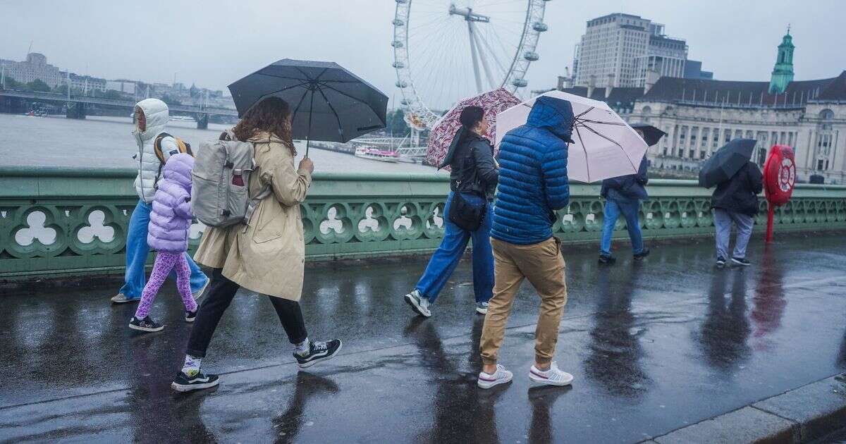
M 746 260 L 746 246 L 752 236 L 753 217 L 758 214 L 758 194 L 763 188 L 761 170 L 754 162 L 746 162 L 732 178 L 718 184 L 714 190 L 711 206 L 717 232 L 717 267 L 726 265 L 732 224 L 737 227 L 738 234 L 731 260 L 739 266 L 750 266 L 750 261 Z

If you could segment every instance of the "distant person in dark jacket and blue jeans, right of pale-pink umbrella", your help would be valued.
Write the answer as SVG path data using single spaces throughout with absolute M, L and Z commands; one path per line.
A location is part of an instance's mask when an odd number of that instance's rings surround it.
M 639 129 L 634 130 L 643 137 Z M 602 212 L 602 241 L 599 247 L 599 263 L 613 265 L 617 260 L 611 255 L 611 236 L 614 224 L 622 214 L 626 220 L 626 229 L 632 243 L 634 260 L 642 260 L 649 255 L 649 249 L 643 245 L 643 233 L 640 232 L 640 200 L 649 195 L 645 184 L 649 182 L 646 175 L 646 157 L 640 159 L 640 166 L 636 174 L 629 174 L 618 178 L 607 178 L 602 181 L 600 195 L 605 198 L 605 210 Z

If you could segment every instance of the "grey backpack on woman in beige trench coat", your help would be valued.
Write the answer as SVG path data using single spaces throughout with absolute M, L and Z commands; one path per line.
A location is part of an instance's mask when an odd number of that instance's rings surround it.
M 259 201 L 271 192 L 265 185 L 255 199 L 250 199 L 255 149 L 250 142 L 237 140 L 231 130 L 226 134 L 228 140 L 202 142 L 195 153 L 191 211 L 209 227 L 249 224 Z

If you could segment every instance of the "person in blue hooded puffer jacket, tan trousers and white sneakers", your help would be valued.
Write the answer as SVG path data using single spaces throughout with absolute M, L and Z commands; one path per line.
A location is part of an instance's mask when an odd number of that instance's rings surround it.
M 511 381 L 497 364 L 505 325 L 520 283 L 529 279 L 541 297 L 531 381 L 566 386 L 573 375 L 552 362 L 558 324 L 567 304 L 561 244 L 552 236 L 555 212 L 569 202 L 568 143 L 573 143 L 569 101 L 541 96 L 525 125 L 505 134 L 499 147 L 499 188 L 491 244 L 496 284 L 481 333 L 482 370 L 477 381 L 490 388 Z

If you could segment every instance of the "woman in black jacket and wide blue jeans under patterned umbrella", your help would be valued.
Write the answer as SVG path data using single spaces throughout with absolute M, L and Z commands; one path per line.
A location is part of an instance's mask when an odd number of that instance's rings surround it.
M 461 128 L 456 132 L 440 166 L 449 165 L 452 170 L 449 174 L 450 192 L 443 208 L 443 240 L 431 256 L 415 289 L 404 296 L 412 310 L 426 317 L 431 316 L 431 304 L 453 275 L 470 238 L 473 238 L 473 292 L 477 313 L 487 313 L 493 290 L 490 236 L 493 191 L 497 188 L 497 162 L 493 159 L 493 146 L 482 137 L 488 129 L 484 110 L 481 107 L 465 107 L 461 110 L 459 121 Z M 464 216 L 453 214 L 464 211 L 464 205 L 481 209 L 481 223 L 476 222 L 476 227 L 461 227 L 451 220 L 456 216 Z

